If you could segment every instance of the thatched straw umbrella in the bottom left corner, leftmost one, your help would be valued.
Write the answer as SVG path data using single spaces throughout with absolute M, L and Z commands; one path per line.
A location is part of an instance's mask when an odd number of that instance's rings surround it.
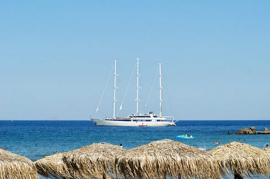
M 0 179 L 39 179 L 34 163 L 20 155 L 0 149 Z

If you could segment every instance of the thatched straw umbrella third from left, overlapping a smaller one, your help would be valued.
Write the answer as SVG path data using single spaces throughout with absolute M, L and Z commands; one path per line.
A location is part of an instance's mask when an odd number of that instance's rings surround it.
M 78 178 L 115 177 L 115 156 L 126 151 L 109 143 L 93 143 L 76 150 L 66 152 L 63 161 L 73 168 Z

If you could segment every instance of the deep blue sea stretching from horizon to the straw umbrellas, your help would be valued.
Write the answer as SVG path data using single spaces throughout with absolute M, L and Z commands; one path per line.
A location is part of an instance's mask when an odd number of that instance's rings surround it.
M 270 120 L 182 120 L 175 124 L 177 126 L 123 127 L 96 126 L 91 120 L 0 120 L 0 148 L 20 153 L 34 162 L 56 151 L 62 153 L 100 142 L 122 144 L 124 149 L 131 149 L 151 141 L 171 139 L 206 151 L 239 139 L 258 148 L 270 143 L 270 135 L 267 134 L 235 134 L 243 127 L 255 126 L 257 131 L 264 131 L 264 127 L 270 129 Z M 185 132 L 196 138 L 176 138 Z M 220 144 L 215 144 L 215 141 Z

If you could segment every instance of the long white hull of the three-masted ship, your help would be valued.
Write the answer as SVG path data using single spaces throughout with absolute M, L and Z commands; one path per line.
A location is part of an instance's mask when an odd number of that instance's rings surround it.
M 176 126 L 172 121 L 117 121 L 105 119 L 91 119 L 98 126 Z M 146 126 L 146 127 L 147 127 Z

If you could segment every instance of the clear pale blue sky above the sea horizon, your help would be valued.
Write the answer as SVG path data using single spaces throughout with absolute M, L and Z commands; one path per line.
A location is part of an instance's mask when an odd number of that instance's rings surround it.
M 88 120 L 114 60 L 123 96 L 139 57 L 144 98 L 162 63 L 176 120 L 269 120 L 269 8 L 270 1 L 1 1 L 0 119 Z M 123 107 L 135 113 L 136 76 L 131 83 Z M 149 107 L 158 102 L 154 88 Z M 112 116 L 112 94 L 108 85 L 97 118 Z

